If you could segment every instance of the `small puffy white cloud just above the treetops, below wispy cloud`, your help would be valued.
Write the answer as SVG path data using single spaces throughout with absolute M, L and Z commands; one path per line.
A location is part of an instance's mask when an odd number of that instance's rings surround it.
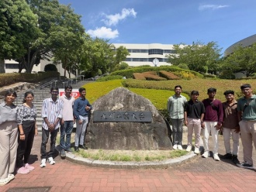
M 102 26 L 101 28 L 96 28 L 95 30 L 89 29 L 87 33 L 92 37 L 99 37 L 102 39 L 114 39 L 118 37 L 118 30 L 112 30 L 110 28 L 106 28 L 106 26 Z

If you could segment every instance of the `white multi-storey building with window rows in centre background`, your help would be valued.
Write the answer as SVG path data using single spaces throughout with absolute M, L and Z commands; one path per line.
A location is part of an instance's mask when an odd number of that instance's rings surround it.
M 130 66 L 141 66 L 141 65 L 150 65 L 161 66 L 161 65 L 171 65 L 167 63 L 168 54 L 175 53 L 173 45 L 171 44 L 160 44 L 160 43 L 151 43 L 151 44 L 127 44 L 127 43 L 112 43 L 116 48 L 119 46 L 124 46 L 129 51 L 130 56 L 126 57 L 126 60 L 123 60 L 125 63 L 128 63 Z M 153 62 L 154 61 L 154 62 Z

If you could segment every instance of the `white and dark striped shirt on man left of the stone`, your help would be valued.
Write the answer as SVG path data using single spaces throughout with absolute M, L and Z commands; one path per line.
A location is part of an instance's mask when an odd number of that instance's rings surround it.
M 43 100 L 42 118 L 47 118 L 50 124 L 54 124 L 57 118 L 62 118 L 63 101 L 57 100 L 54 102 L 52 98 Z M 47 123 L 43 120 L 43 129 L 48 130 Z M 60 121 L 57 122 L 55 129 L 60 127 Z

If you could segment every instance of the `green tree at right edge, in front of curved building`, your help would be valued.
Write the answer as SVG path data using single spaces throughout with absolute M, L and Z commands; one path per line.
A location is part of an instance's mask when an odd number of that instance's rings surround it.
M 234 47 L 234 52 L 223 60 L 223 70 L 230 70 L 231 73 L 242 72 L 250 77 L 256 72 L 256 43 L 251 46 L 241 45 Z

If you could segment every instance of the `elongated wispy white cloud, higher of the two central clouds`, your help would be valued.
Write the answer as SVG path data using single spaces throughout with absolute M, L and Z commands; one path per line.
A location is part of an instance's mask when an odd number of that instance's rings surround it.
M 115 15 L 105 15 L 106 19 L 102 19 L 103 22 L 107 26 L 116 26 L 116 24 L 123 20 L 126 19 L 129 16 L 133 16 L 136 18 L 137 12 L 134 11 L 134 9 L 122 9 L 121 13 L 116 13 Z

